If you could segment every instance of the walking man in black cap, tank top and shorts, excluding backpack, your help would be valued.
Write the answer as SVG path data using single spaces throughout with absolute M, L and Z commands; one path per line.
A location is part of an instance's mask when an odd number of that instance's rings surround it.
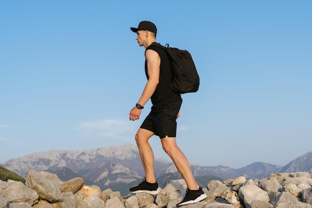
M 142 109 L 149 99 L 153 107 L 135 136 L 146 177 L 139 186 L 131 188 L 130 191 L 152 195 L 160 192 L 154 173 L 154 154 L 149 144 L 149 139 L 157 135 L 163 150 L 172 159 L 187 185 L 186 195 L 177 206 L 199 202 L 207 196 L 197 185 L 185 155 L 176 144 L 176 119 L 179 117 L 182 99 L 179 93 L 169 87 L 173 75 L 166 51 L 156 43 L 156 25 L 150 21 L 142 21 L 138 28 L 131 27 L 131 30 L 137 33 L 136 40 L 139 45 L 146 48 L 145 72 L 148 81 L 138 103 L 130 111 L 130 120 L 140 119 Z

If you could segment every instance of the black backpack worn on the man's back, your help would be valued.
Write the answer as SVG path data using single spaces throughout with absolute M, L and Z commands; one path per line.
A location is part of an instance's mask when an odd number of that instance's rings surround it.
M 165 47 L 160 44 L 157 45 L 165 49 L 169 57 L 173 73 L 170 87 L 181 94 L 197 92 L 199 76 L 191 54 L 187 50 L 169 47 L 169 44 L 166 44 Z

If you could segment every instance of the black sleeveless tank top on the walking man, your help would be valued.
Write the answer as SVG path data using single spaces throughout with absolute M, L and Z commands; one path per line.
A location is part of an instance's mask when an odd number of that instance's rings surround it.
M 167 52 L 163 48 L 157 46 L 157 44 L 160 45 L 159 43 L 153 42 L 149 47 L 146 48 L 146 50 L 151 49 L 156 51 L 160 57 L 159 82 L 154 94 L 151 97 L 151 101 L 154 107 L 182 101 L 180 94 L 173 91 L 169 87 L 172 82 L 172 71 L 169 58 Z M 149 79 L 147 60 L 145 60 L 145 73 Z

